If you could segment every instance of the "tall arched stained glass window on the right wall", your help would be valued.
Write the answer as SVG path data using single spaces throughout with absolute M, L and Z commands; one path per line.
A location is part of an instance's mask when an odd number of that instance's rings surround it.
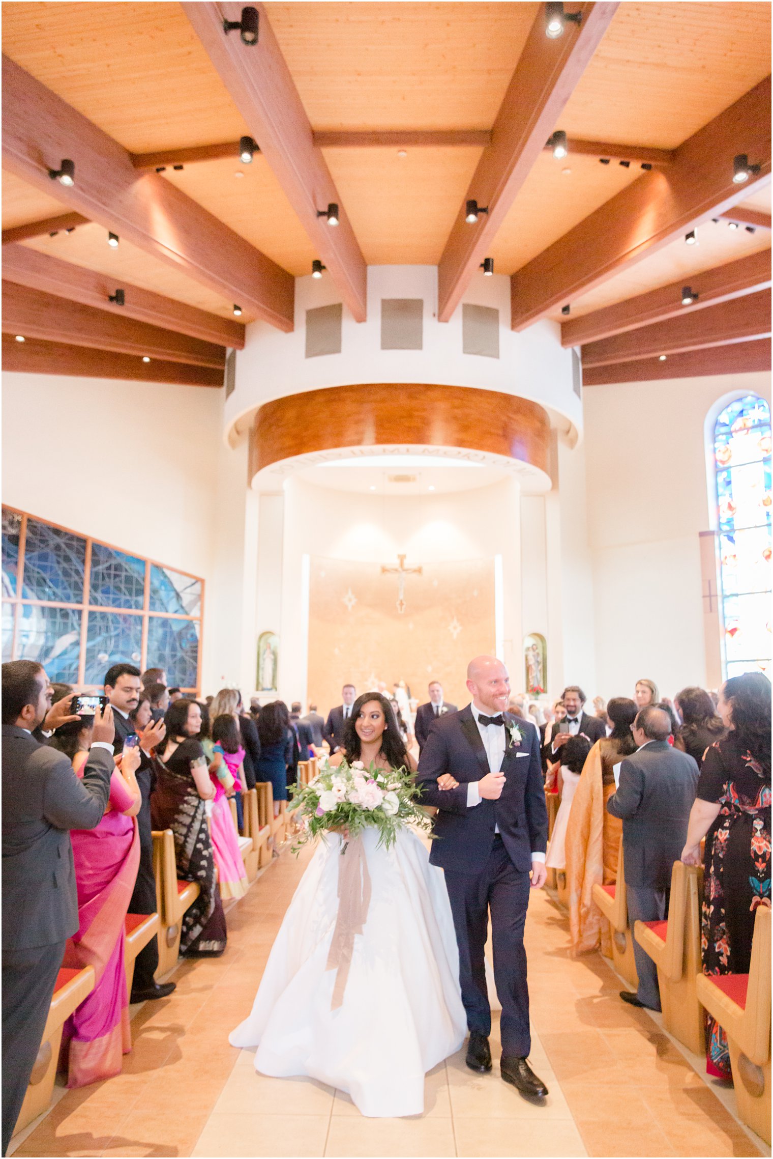
M 746 394 L 714 427 L 726 676 L 771 666 L 771 410 Z

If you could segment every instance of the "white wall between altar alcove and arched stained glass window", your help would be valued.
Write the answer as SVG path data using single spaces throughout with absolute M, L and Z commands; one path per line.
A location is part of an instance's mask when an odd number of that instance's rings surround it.
M 741 392 L 770 399 L 770 373 L 583 392 L 597 688 L 604 697 L 631 695 L 640 677 L 670 697 L 706 679 L 698 535 L 712 522 L 704 429 L 709 408 Z

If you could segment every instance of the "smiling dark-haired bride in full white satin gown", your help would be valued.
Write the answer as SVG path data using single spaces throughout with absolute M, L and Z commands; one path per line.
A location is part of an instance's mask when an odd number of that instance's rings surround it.
M 347 760 L 415 771 L 385 697 L 359 697 L 347 726 Z M 375 829 L 365 830 L 370 898 L 341 994 L 340 968 L 326 965 L 343 840 L 332 832 L 321 840 L 285 914 L 252 1013 L 229 1041 L 258 1048 L 255 1069 L 262 1074 L 308 1074 L 345 1091 L 363 1115 L 419 1115 L 426 1072 L 466 1035 L 442 870 L 429 865 L 410 830 L 399 830 L 389 850 L 378 847 Z

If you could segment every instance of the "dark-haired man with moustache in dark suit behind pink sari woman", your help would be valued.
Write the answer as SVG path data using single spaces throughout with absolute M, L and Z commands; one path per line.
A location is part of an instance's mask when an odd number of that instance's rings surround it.
M 137 736 L 134 722 L 130 716 L 140 700 L 142 684 L 140 670 L 133 664 L 113 664 L 104 678 L 104 694 L 110 700 L 116 724 L 116 756 L 123 752 L 127 737 Z M 137 828 L 140 834 L 140 865 L 137 870 L 134 892 L 128 903 L 130 913 L 156 912 L 156 879 L 153 873 L 153 826 L 150 824 L 150 790 L 153 780 L 153 763 L 150 750 L 161 744 L 167 729 L 163 721 L 154 721 L 139 737 L 141 751 L 140 767 L 137 770 L 137 783 L 142 794 L 142 804 L 137 815 Z M 132 981 L 131 1001 L 143 1003 L 153 998 L 165 998 L 175 990 L 177 983 L 155 981 L 159 969 L 159 942 L 152 938 L 137 955 L 134 978 Z

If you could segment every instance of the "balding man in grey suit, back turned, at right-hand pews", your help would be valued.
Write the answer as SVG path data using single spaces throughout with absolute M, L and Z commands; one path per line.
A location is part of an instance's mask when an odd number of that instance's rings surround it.
M 668 743 L 671 721 L 662 708 L 642 708 L 631 731 L 639 750 L 623 761 L 617 792 L 606 808 L 623 821 L 625 888 L 633 933 L 635 921 L 662 921 L 667 914 L 671 869 L 682 857 L 695 800 L 698 765 Z M 635 939 L 633 953 L 639 989 L 635 994 L 624 990 L 620 998 L 632 1006 L 658 1011 L 655 963 Z

